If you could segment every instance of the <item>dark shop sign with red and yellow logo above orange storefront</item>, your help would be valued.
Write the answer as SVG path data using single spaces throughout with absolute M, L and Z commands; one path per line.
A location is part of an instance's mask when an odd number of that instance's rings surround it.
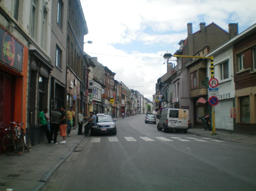
M 0 61 L 22 71 L 23 46 L 0 27 Z

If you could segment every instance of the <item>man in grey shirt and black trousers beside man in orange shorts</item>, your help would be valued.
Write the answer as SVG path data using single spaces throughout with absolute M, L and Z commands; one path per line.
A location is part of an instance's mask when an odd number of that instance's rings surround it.
M 53 144 L 58 144 L 57 143 L 57 135 L 58 135 L 58 131 L 60 128 L 60 120 L 61 120 L 61 113 L 59 112 L 59 108 L 56 108 L 56 110 L 52 112 L 51 117 L 52 117 L 52 119 L 51 119 L 51 137 L 54 132 Z

